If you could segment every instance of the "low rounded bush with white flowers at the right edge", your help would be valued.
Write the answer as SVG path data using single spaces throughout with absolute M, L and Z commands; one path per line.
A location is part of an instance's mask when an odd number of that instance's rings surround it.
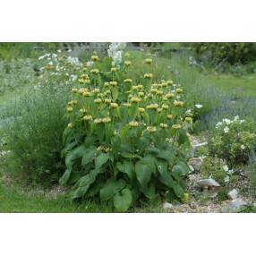
M 226 159 L 229 166 L 246 164 L 256 149 L 255 122 L 223 119 L 209 139 L 209 154 Z

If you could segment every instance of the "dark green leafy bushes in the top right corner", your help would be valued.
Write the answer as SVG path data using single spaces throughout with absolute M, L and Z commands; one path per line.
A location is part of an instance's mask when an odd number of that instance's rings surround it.
M 219 64 L 248 64 L 255 61 L 256 43 L 194 43 L 198 59 Z

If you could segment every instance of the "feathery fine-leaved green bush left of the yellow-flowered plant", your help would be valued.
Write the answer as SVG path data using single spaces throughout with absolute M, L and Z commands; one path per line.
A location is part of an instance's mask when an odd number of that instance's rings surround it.
M 63 91 L 31 90 L 16 105 L 20 115 L 4 122 L 4 141 L 12 152 L 7 160 L 30 183 L 56 183 L 63 171 L 60 151 L 66 100 Z

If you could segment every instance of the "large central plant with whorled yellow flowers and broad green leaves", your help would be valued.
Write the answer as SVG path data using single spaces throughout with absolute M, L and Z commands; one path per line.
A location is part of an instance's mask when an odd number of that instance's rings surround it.
M 60 179 L 73 184 L 74 200 L 96 197 L 118 211 L 141 199 L 183 201 L 192 125 L 183 89 L 173 81 L 156 81 L 151 58 L 142 69 L 134 81 L 128 55 L 114 66 L 111 58 L 92 55 L 77 71 L 66 107 L 66 171 Z

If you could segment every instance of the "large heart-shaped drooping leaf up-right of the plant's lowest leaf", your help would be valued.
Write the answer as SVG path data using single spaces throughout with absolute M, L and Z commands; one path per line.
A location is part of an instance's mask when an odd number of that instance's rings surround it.
M 155 158 L 149 155 L 142 158 L 135 165 L 135 173 L 142 187 L 149 183 L 151 175 L 155 173 L 156 166 L 154 160 Z

